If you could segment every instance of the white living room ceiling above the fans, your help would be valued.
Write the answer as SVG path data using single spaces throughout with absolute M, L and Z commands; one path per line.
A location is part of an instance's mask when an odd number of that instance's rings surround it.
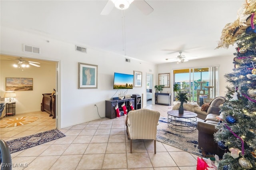
M 150 63 L 168 63 L 183 51 L 187 59 L 227 56 L 235 47 L 215 49 L 222 28 L 236 20 L 244 0 L 146 0 L 144 15 L 136 6 L 100 15 L 107 0 L 1 0 L 1 26 L 46 34 L 50 38 L 112 51 Z M 31 44 L 33 45 L 33 44 Z M 170 50 L 170 51 L 169 51 Z

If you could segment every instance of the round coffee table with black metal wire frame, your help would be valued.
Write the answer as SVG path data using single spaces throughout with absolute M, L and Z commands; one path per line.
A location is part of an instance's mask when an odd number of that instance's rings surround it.
M 190 111 L 184 111 L 179 114 L 178 110 L 167 112 L 168 127 L 176 132 L 190 133 L 196 131 L 197 114 Z

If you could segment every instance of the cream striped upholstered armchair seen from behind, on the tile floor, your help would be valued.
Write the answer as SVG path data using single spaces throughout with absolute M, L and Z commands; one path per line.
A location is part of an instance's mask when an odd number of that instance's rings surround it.
M 160 113 L 149 109 L 138 109 L 130 111 L 128 116 L 127 132 L 130 138 L 130 152 L 132 153 L 133 139 L 152 139 L 156 153 L 156 130 Z

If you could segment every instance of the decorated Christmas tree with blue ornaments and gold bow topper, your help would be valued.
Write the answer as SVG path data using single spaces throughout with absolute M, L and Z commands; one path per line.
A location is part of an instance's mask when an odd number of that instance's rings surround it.
M 225 75 L 226 102 L 214 134 L 227 152 L 218 170 L 256 170 L 256 1 L 247 0 L 238 20 L 227 24 L 218 47 L 236 44 L 234 69 Z

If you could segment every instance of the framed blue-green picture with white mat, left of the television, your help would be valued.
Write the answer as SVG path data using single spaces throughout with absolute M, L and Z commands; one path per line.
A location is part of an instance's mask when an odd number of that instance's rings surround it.
M 78 63 L 78 89 L 98 88 L 98 65 Z

